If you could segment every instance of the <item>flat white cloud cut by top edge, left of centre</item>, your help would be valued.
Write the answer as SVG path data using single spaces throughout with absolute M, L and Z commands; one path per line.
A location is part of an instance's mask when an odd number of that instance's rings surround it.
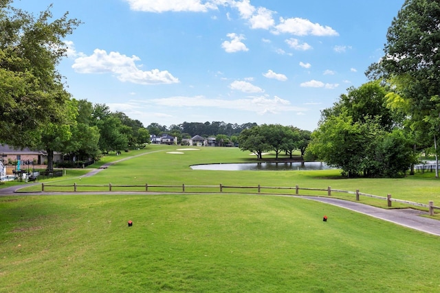
M 202 3 L 201 0 L 125 0 L 131 10 L 143 12 L 207 12 L 216 10 L 217 5 L 211 1 Z

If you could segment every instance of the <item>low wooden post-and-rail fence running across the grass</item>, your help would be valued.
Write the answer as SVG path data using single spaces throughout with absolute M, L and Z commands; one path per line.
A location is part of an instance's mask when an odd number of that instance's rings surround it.
M 233 186 L 233 185 L 148 185 L 148 183 L 145 183 L 145 185 L 113 185 L 109 183 L 108 185 L 78 185 L 74 183 L 73 185 L 54 185 L 54 184 L 45 184 L 41 183 L 41 191 L 47 191 L 45 190 L 47 187 L 73 187 L 74 192 L 78 191 L 78 187 L 107 187 L 108 191 L 114 191 L 113 188 L 115 187 L 132 187 L 132 188 L 142 188 L 144 190 L 142 191 L 151 191 L 151 188 L 164 188 L 164 189 L 178 189 L 179 192 L 186 192 L 187 188 L 191 189 L 197 189 L 197 188 L 205 188 L 205 189 L 217 189 L 217 191 L 212 192 L 225 192 L 224 189 L 255 189 L 258 194 L 261 194 L 261 191 L 263 189 L 285 189 L 285 190 L 295 190 L 295 195 L 299 195 L 300 190 L 309 190 L 309 191 L 325 191 L 327 193 L 327 196 L 331 196 L 332 193 L 344 193 L 344 194 L 354 194 L 356 200 L 360 200 L 360 196 L 366 196 L 369 198 L 377 198 L 379 200 L 386 200 L 388 207 L 392 207 L 392 202 L 399 202 L 401 204 L 409 204 L 416 207 L 423 207 L 429 210 L 430 215 L 434 215 L 434 209 L 439 209 L 440 207 L 434 206 L 434 202 L 430 200 L 428 204 L 421 204 L 418 202 L 410 202 L 408 200 L 398 200 L 397 198 L 392 198 L 391 194 L 388 194 L 386 197 L 384 196 L 375 196 L 373 194 L 364 194 L 362 192 L 359 192 L 359 189 L 356 191 L 347 191 L 347 190 L 341 190 L 341 189 L 331 189 L 331 187 L 327 187 L 325 189 L 319 189 L 319 188 L 306 188 L 306 187 L 299 187 L 299 185 L 296 185 L 295 187 L 270 187 L 270 186 Z M 121 191 L 121 190 L 118 190 Z M 234 191 L 236 192 L 236 191 Z M 286 195 L 292 195 L 292 194 L 286 194 Z

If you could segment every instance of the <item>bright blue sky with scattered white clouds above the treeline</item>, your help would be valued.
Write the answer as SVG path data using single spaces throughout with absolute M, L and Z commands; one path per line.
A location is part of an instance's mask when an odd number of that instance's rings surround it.
M 314 130 L 383 55 L 404 0 L 15 0 L 69 12 L 59 71 L 76 99 L 144 126 L 225 121 Z

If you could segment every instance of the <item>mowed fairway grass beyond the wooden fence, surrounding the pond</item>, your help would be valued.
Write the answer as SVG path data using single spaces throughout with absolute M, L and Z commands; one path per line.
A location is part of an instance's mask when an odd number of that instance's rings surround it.
M 63 178 L 59 184 L 73 185 L 107 185 L 107 187 L 78 187 L 78 191 L 107 191 L 109 183 L 112 185 L 178 185 L 168 191 L 181 191 L 181 185 L 228 185 L 228 186 L 258 186 L 263 187 L 299 187 L 327 189 L 342 189 L 356 191 L 376 196 L 386 197 L 391 194 L 393 198 L 409 200 L 428 204 L 430 200 L 434 205 L 440 205 L 440 180 L 434 178 L 434 173 L 416 174 L 406 178 L 351 178 L 344 179 L 339 170 L 323 171 L 206 171 L 193 170 L 190 165 L 206 163 L 251 163 L 256 162 L 255 156 L 249 152 L 242 152 L 239 148 L 181 148 L 179 146 L 151 145 L 146 150 L 123 152 L 121 156 L 106 156 L 104 161 L 118 161 L 115 165 L 103 170 L 89 178 Z M 184 154 L 169 154 L 168 152 L 183 152 Z M 133 159 L 120 161 L 135 156 Z M 274 154 L 263 158 L 274 159 Z M 282 156 L 283 157 L 283 156 Z M 93 167 L 93 165 L 92 165 Z M 67 170 L 67 174 L 72 172 Z M 23 189 L 25 191 L 41 191 L 41 185 Z M 47 187 L 46 191 L 73 191 L 73 187 Z M 114 187 L 113 191 L 129 190 L 129 188 Z M 143 191 L 144 187 L 132 190 Z M 163 191 L 165 189 L 150 188 L 150 191 Z M 215 189 L 186 188 L 187 192 L 219 191 Z M 257 189 L 224 189 L 232 192 L 257 192 Z M 286 189 L 262 189 L 262 192 L 280 193 L 290 192 Z M 301 194 L 326 195 L 326 192 L 301 190 Z M 333 196 L 354 200 L 353 194 L 333 193 Z M 361 202 L 386 207 L 385 200 L 376 200 L 361 197 Z M 406 207 L 403 204 L 393 203 L 393 207 Z

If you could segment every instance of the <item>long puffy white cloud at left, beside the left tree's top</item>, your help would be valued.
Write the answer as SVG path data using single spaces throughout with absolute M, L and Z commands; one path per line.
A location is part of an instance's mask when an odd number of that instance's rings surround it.
M 137 56 L 126 56 L 119 52 L 110 52 L 95 49 L 91 56 L 76 58 L 72 68 L 78 73 L 112 73 L 122 82 L 133 82 L 135 84 L 173 84 L 178 83 L 168 71 L 142 71 L 135 64 L 140 58 Z

